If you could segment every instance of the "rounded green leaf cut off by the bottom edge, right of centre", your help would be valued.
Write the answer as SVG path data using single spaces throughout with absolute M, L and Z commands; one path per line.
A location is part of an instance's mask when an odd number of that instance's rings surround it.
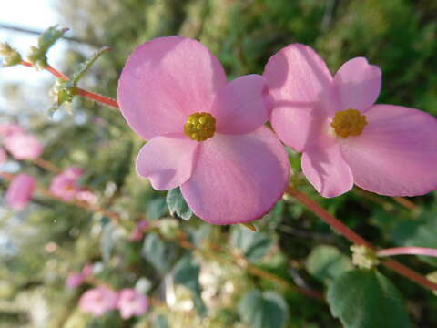
M 251 328 L 281 328 L 289 317 L 287 303 L 276 292 L 252 290 L 243 296 L 238 311 Z

